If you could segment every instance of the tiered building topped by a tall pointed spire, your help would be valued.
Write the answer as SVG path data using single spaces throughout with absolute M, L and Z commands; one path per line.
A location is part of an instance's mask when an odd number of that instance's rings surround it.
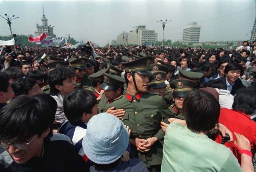
M 42 33 L 46 32 L 47 33 L 47 38 L 55 38 L 56 35 L 53 33 L 53 27 L 48 26 L 48 19 L 45 18 L 45 11 L 44 11 L 44 6 L 43 6 L 43 18 L 41 18 L 42 25 L 37 24 L 37 31 L 35 31 L 35 36 L 39 36 Z

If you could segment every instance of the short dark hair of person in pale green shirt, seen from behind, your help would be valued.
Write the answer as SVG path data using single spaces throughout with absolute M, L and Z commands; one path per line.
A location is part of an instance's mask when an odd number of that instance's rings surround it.
M 211 93 L 195 90 L 184 99 L 182 110 L 189 130 L 207 132 L 218 124 L 221 107 Z

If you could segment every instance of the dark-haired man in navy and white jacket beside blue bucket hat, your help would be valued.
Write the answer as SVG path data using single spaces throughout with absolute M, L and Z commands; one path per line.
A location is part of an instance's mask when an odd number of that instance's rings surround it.
M 87 90 L 75 90 L 65 96 L 63 101 L 67 121 L 61 124 L 60 134 L 67 135 L 85 162 L 88 158 L 82 149 L 82 140 L 86 134 L 87 123 L 98 112 L 95 95 Z

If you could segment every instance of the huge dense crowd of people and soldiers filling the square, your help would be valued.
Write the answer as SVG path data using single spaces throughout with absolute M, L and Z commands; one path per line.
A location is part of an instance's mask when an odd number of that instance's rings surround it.
M 255 56 L 2 46 L 0 171 L 253 172 Z

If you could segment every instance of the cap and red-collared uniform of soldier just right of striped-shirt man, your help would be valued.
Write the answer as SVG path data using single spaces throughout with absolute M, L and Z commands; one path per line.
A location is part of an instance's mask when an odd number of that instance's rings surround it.
M 79 59 L 71 58 L 71 59 L 69 59 L 69 64 L 70 64 L 70 67 L 74 68 L 74 70 L 76 70 L 76 69 L 85 70 L 85 69 L 87 69 L 85 66 L 87 61 L 88 61 L 87 58 L 79 58 Z M 85 85 L 85 83 L 83 82 L 84 80 L 85 80 L 85 78 L 78 78 L 76 76 L 75 81 L 76 81 L 77 88 L 83 88 L 83 86 Z

